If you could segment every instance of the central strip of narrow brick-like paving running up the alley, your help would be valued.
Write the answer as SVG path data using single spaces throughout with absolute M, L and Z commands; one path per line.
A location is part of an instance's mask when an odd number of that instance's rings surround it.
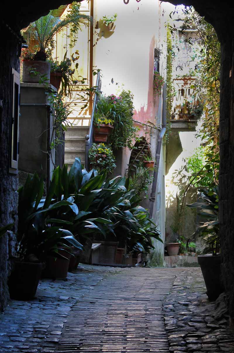
M 169 352 L 162 304 L 181 269 L 130 268 L 77 303 L 57 353 Z

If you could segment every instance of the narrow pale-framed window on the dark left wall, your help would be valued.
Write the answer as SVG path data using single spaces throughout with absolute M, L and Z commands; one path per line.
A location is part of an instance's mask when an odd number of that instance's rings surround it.
M 10 173 L 17 173 L 19 158 L 19 72 L 12 68 L 12 109 L 11 109 L 11 144 L 10 144 Z

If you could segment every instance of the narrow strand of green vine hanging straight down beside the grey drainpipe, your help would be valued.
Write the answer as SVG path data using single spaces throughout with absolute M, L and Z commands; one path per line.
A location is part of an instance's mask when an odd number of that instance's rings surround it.
M 167 118 L 167 126 L 165 139 L 166 142 L 169 141 L 170 131 L 171 131 L 171 111 L 172 111 L 172 97 L 173 97 L 173 86 L 172 86 L 172 40 L 171 40 L 171 31 L 169 27 L 167 27 L 167 64 L 166 64 L 166 118 Z

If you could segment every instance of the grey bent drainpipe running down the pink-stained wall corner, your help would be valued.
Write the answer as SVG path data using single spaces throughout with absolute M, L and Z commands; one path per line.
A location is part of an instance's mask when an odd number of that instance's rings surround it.
M 159 161 L 160 161 L 160 153 L 161 153 L 161 146 L 162 146 L 162 139 L 164 137 L 165 131 L 166 131 L 166 126 L 167 126 L 167 115 L 166 115 L 166 89 L 167 89 L 167 84 L 164 83 L 163 85 L 163 90 L 162 90 L 162 128 L 159 133 L 158 141 L 157 141 L 157 148 L 156 148 L 156 168 L 154 170 L 153 174 L 153 184 L 152 184 L 152 189 L 151 189 L 151 194 L 150 194 L 150 207 L 149 207 L 149 215 L 150 218 L 153 216 L 153 209 L 154 209 L 154 202 L 155 202 L 155 193 L 156 193 L 156 187 L 157 187 L 157 180 L 158 180 L 158 170 L 159 170 Z

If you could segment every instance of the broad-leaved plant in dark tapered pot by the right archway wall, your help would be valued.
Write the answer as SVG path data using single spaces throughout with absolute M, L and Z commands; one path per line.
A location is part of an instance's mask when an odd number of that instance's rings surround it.
M 199 201 L 187 206 L 197 208 L 197 213 L 205 219 L 194 233 L 205 241 L 203 254 L 197 258 L 207 287 L 207 296 L 210 300 L 216 300 L 224 290 L 221 280 L 218 187 L 214 187 L 211 191 L 208 189 L 200 191 L 202 196 Z

